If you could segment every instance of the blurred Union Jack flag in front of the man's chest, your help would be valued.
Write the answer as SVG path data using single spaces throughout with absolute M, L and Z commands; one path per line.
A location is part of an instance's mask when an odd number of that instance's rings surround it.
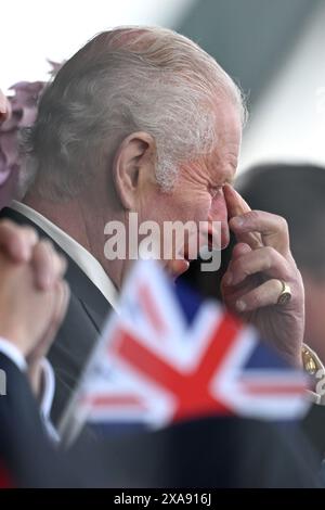
M 211 415 L 280 420 L 308 410 L 304 374 L 212 301 L 136 264 L 86 371 L 75 413 L 159 428 Z

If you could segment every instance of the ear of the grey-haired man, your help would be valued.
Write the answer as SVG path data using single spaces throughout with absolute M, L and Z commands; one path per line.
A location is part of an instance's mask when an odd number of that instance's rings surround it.
M 154 174 L 156 144 L 147 132 L 132 132 L 123 139 L 113 162 L 113 179 L 116 194 L 122 206 L 134 208 L 143 177 Z

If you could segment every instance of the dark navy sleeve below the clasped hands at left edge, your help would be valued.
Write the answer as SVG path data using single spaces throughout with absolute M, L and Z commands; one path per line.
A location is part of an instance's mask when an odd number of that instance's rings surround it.
M 0 369 L 5 393 L 0 395 L 0 459 L 13 484 L 82 486 L 69 459 L 48 437 L 25 374 L 1 353 Z

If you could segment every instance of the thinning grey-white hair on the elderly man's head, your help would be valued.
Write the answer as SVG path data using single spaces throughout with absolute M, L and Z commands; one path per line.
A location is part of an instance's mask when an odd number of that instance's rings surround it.
M 231 100 L 245 122 L 239 88 L 186 37 L 159 27 L 104 31 L 44 90 L 25 135 L 26 171 L 41 194 L 73 196 L 103 164 L 108 145 L 113 151 L 126 136 L 145 131 L 156 143 L 156 179 L 168 191 L 181 163 L 216 148 L 216 99 Z

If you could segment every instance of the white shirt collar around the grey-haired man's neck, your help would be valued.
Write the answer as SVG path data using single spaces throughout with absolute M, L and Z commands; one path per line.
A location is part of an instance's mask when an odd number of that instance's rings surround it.
M 103 266 L 93 255 L 91 255 L 90 252 L 88 252 L 88 250 L 86 250 L 83 246 L 81 246 L 81 244 L 75 241 L 75 239 L 73 239 L 61 228 L 52 224 L 52 221 L 28 205 L 14 200 L 10 206 L 17 213 L 21 213 L 22 215 L 26 216 L 26 218 L 34 221 L 47 234 L 49 234 L 53 241 L 55 241 L 55 243 L 58 244 L 58 246 L 80 267 L 84 275 L 106 297 L 113 308 L 117 308 L 117 290 L 110 278 L 105 272 Z

